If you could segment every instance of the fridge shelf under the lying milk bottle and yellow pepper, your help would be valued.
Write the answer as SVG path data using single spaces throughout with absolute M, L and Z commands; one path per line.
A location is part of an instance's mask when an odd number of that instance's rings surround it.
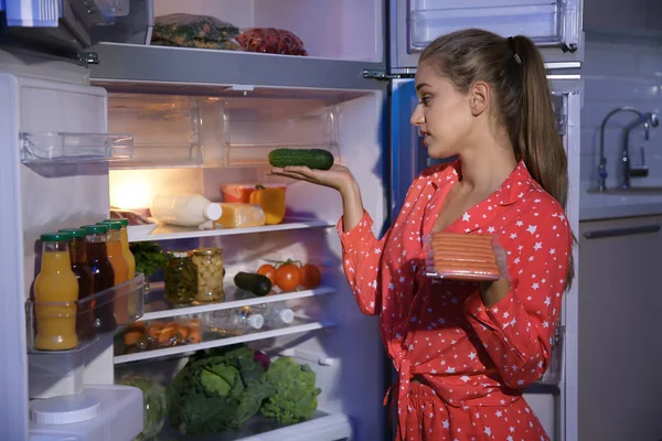
M 260 227 L 246 228 L 215 228 L 201 230 L 197 228 L 177 227 L 172 225 L 159 224 L 151 233 L 146 235 L 132 235 L 129 228 L 129 241 L 147 241 L 147 240 L 174 240 L 189 239 L 194 237 L 215 237 L 215 236 L 232 236 L 242 234 L 285 232 L 288 229 L 306 229 L 306 228 L 331 228 L 335 224 L 331 224 L 320 219 L 302 219 L 297 217 L 288 217 L 278 225 L 263 225 Z

